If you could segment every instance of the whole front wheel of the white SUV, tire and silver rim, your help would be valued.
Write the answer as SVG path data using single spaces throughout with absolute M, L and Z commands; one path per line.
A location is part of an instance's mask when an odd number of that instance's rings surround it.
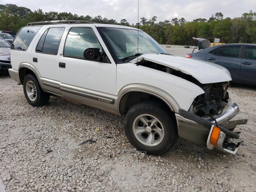
M 153 155 L 168 152 L 178 140 L 173 114 L 155 101 L 140 102 L 130 108 L 125 117 L 125 132 L 136 149 Z

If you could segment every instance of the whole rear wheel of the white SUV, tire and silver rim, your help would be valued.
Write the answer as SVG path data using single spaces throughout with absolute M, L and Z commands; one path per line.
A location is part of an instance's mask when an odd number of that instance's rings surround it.
M 49 94 L 42 90 L 38 81 L 32 74 L 25 76 L 23 81 L 23 91 L 26 100 L 32 106 L 39 107 L 49 102 Z

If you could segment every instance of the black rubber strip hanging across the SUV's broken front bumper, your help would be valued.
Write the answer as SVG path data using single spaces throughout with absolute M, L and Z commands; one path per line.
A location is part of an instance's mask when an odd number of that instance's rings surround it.
M 206 120 L 202 117 L 199 117 L 195 114 L 192 114 L 192 113 L 190 113 L 190 112 L 188 112 L 184 109 L 180 109 L 179 114 L 180 114 L 180 116 L 182 116 L 186 119 L 192 120 L 192 121 L 208 128 L 208 129 L 211 129 L 212 125 L 214 125 L 214 123 L 212 123 L 212 122 L 210 122 L 210 121 L 208 121 L 208 120 Z M 218 126 L 218 128 L 220 128 L 220 130 L 222 132 L 224 132 L 226 134 L 226 136 L 228 136 L 230 138 L 238 139 L 240 137 L 239 134 L 236 134 L 236 133 L 234 133 L 234 132 L 232 132 L 232 131 L 224 128 L 224 127 Z

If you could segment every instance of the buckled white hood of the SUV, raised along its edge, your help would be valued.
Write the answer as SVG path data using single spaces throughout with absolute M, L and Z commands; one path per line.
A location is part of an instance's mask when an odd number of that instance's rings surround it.
M 226 68 L 206 61 L 192 60 L 173 55 L 143 54 L 132 60 L 131 63 L 136 64 L 137 60 L 138 62 L 147 60 L 170 67 L 174 70 L 179 70 L 185 74 L 193 76 L 202 84 L 232 80 L 230 73 Z

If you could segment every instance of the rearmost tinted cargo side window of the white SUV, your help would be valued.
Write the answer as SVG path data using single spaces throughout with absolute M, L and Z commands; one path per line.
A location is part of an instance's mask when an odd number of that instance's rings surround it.
M 31 26 L 22 28 L 12 42 L 11 49 L 26 51 L 41 27 L 42 26 Z

